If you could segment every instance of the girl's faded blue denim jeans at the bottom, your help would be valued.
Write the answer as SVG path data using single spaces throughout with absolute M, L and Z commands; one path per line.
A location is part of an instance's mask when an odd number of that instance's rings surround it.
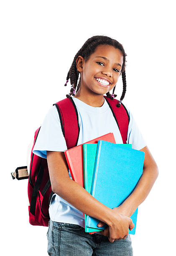
M 47 232 L 48 255 L 51 256 L 133 256 L 130 235 L 110 243 L 107 236 L 86 233 L 84 228 L 50 219 Z

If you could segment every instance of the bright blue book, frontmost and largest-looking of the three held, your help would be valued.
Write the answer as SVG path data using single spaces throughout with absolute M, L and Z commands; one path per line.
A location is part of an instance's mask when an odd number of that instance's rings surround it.
M 90 194 L 111 209 L 121 205 L 143 173 L 144 156 L 143 151 L 99 140 Z M 129 234 L 135 234 L 137 214 L 138 208 L 130 217 L 135 226 Z M 99 228 L 98 223 L 98 219 L 87 215 L 87 227 Z M 99 229 L 105 228 L 107 224 Z

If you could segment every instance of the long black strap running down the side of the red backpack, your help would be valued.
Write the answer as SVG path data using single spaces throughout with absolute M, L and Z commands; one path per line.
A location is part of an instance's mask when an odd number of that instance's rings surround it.
M 33 187 L 33 193 L 32 193 L 32 199 L 31 199 L 30 212 L 34 216 L 35 216 L 35 212 L 36 212 L 37 194 L 38 194 L 38 190 L 40 189 L 41 181 L 42 181 L 42 178 L 43 178 L 43 173 L 44 173 L 44 169 L 43 169 L 43 166 L 41 164 L 40 170 L 39 170 L 38 175 L 37 175 L 36 183 Z

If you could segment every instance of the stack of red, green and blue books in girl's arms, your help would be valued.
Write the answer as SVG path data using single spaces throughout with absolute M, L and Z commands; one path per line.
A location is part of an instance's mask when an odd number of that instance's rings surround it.
M 107 207 L 122 204 L 135 189 L 142 173 L 145 153 L 131 144 L 116 144 L 113 133 L 64 151 L 72 179 Z M 84 213 L 83 213 L 84 214 Z M 135 234 L 138 208 L 130 217 Z M 103 231 L 100 220 L 84 214 L 85 232 Z

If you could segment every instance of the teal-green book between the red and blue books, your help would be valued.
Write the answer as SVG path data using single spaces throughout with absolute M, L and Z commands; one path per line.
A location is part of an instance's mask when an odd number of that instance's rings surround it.
M 131 144 L 117 144 L 131 148 Z M 82 145 L 83 149 L 83 177 L 84 177 L 84 188 L 87 192 L 91 192 L 92 178 L 94 173 L 94 163 L 97 152 L 97 143 L 85 143 Z M 85 219 L 85 232 L 97 232 L 103 231 L 101 228 L 89 228 L 86 226 L 87 215 L 84 214 Z

